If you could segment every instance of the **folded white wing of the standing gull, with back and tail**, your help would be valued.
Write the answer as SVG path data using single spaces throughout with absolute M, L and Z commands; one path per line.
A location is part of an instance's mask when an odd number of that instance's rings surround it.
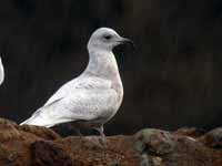
M 111 89 L 109 81 L 88 79 L 68 82 L 44 106 L 21 124 L 51 127 L 71 121 L 95 120 L 105 116 L 102 112 L 111 110 L 115 100 L 117 92 Z

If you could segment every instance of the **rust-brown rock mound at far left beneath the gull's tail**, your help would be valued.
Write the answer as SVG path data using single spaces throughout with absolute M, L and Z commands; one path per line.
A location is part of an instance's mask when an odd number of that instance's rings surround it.
M 31 144 L 58 137 L 53 131 L 36 126 L 19 126 L 0 118 L 0 165 L 24 166 L 31 164 Z

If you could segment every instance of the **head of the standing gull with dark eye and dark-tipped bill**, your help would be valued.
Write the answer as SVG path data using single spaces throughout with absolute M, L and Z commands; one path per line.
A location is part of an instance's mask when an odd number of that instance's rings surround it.
M 88 50 L 112 51 L 117 45 L 125 43 L 133 44 L 130 39 L 120 37 L 114 30 L 100 28 L 92 33 L 88 42 Z

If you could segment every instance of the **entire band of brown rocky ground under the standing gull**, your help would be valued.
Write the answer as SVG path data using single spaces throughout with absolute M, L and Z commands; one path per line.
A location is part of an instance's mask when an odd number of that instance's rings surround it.
M 61 137 L 0 118 L 0 166 L 222 166 L 222 127 L 205 132 L 144 128 L 134 135 Z

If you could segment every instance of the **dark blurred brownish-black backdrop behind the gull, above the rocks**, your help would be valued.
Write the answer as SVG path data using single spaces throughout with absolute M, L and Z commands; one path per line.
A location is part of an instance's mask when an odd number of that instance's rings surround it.
M 78 76 L 100 27 L 137 44 L 114 50 L 124 100 L 108 135 L 222 125 L 220 0 L 0 1 L 0 116 L 20 123 Z

